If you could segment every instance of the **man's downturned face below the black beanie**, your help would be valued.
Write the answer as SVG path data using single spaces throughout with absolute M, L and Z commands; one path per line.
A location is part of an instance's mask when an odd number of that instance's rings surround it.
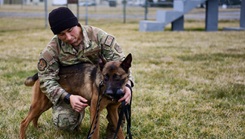
M 66 30 L 61 31 L 58 38 L 72 46 L 78 46 L 82 41 L 81 28 L 79 26 L 74 26 Z

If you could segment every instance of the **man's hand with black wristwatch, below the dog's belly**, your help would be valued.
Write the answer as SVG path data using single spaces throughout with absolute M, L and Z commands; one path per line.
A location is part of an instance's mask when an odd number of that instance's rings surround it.
M 88 106 L 87 100 L 78 95 L 70 96 L 70 104 L 71 107 L 77 112 L 83 111 Z

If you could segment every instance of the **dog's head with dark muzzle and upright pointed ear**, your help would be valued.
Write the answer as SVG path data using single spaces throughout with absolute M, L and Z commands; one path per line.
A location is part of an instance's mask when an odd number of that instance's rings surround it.
M 132 55 L 128 56 L 123 61 L 105 62 L 102 60 L 100 68 L 103 75 L 103 85 L 105 87 L 104 94 L 111 99 L 118 100 L 123 95 L 123 87 L 129 80 L 129 68 L 131 67 Z

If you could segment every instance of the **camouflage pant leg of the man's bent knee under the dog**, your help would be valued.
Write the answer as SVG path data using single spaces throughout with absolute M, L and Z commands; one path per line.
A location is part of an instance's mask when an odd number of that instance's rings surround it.
M 78 113 L 72 109 L 71 105 L 64 102 L 53 106 L 54 125 L 62 130 L 74 130 L 81 124 L 84 114 L 85 111 Z

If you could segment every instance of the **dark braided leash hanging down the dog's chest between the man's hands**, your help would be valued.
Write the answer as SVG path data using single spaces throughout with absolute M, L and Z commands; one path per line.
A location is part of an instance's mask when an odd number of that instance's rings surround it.
M 102 88 L 102 86 L 103 86 L 103 81 L 101 81 L 100 82 L 100 85 L 99 85 L 99 92 L 100 93 L 98 95 L 98 101 L 97 101 L 97 106 L 96 106 L 96 114 L 94 115 L 92 125 L 90 126 L 90 129 L 89 129 L 89 132 L 88 132 L 88 135 L 87 135 L 87 139 L 91 139 L 92 135 L 94 134 L 95 129 L 97 128 L 96 125 L 98 123 L 99 110 L 100 110 L 100 102 L 102 100 L 102 94 L 101 94 L 101 88 Z M 93 126 L 93 123 L 94 122 L 95 122 L 95 124 L 94 124 L 94 128 L 92 130 L 92 126 Z

